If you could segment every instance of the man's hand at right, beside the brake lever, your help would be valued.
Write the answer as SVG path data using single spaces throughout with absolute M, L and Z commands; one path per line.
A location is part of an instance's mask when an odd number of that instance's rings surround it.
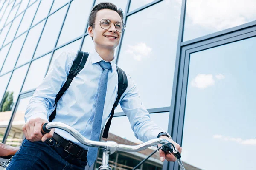
M 180 152 L 180 154 L 181 154 L 182 148 L 180 147 L 179 144 L 177 144 L 176 142 L 174 142 L 172 139 L 168 138 L 167 136 L 160 136 L 159 138 L 166 139 L 166 140 L 168 140 L 169 142 L 171 142 L 172 144 L 174 144 L 175 148 L 176 148 L 176 149 Z M 159 144 L 158 146 L 160 147 L 161 145 Z M 175 158 L 175 156 L 174 156 L 173 154 L 171 154 L 171 153 L 164 153 L 163 150 L 161 150 L 161 149 L 159 150 L 159 156 L 160 156 L 160 161 L 162 161 L 162 162 L 163 162 L 165 159 L 166 159 L 167 161 L 172 161 L 172 162 L 176 161 L 176 158 Z

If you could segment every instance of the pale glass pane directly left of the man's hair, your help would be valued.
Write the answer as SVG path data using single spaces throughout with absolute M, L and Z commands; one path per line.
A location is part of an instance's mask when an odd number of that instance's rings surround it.
M 92 0 L 90 0 L 90 3 L 85 0 L 71 2 L 57 46 L 73 40 L 84 33 L 92 6 L 91 4 Z

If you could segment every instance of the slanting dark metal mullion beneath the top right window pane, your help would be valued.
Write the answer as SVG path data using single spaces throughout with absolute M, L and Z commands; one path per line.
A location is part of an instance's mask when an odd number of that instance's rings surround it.
M 199 38 L 195 38 L 193 40 L 188 40 L 188 41 L 182 42 L 181 46 L 198 43 L 198 42 L 209 40 L 209 39 L 212 39 L 212 38 L 215 38 L 215 37 L 220 37 L 220 36 L 223 36 L 225 34 L 230 34 L 232 32 L 241 31 L 241 30 L 244 30 L 244 29 L 247 29 L 247 28 L 250 28 L 250 27 L 254 27 L 254 26 L 256 26 L 256 21 L 252 21 L 250 23 L 246 23 L 246 24 L 236 26 L 236 27 L 233 27 L 233 28 L 228 28 L 228 29 L 225 29 L 225 30 L 222 30 L 222 31 L 218 31 L 218 32 L 215 32 L 215 33 L 212 33 L 212 34 L 205 35 L 203 37 L 199 37 Z

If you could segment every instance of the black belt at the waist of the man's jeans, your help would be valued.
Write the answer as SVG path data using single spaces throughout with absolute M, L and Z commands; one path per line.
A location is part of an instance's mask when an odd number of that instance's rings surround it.
M 55 139 L 55 141 L 58 143 L 62 141 L 61 146 L 64 147 L 64 151 L 66 151 L 67 153 L 70 153 L 71 155 L 75 156 L 78 159 L 81 159 L 82 161 L 87 161 L 86 156 L 88 150 L 82 149 L 76 144 L 73 144 L 72 142 L 59 136 L 57 133 L 53 133 L 52 138 Z

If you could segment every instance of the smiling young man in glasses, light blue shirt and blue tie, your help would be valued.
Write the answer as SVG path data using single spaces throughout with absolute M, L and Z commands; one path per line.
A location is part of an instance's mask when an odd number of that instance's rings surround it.
M 122 11 L 117 10 L 115 5 L 100 3 L 93 7 L 88 33 L 93 39 L 95 49 L 89 51 L 84 68 L 58 101 L 57 114 L 53 121 L 74 127 L 87 139 L 99 140 L 99 131 L 104 127 L 117 96 L 118 74 L 114 49 L 119 44 L 124 28 Z M 97 149 L 84 146 L 64 130 L 52 129 L 47 134 L 41 133 L 41 125 L 48 122 L 49 115 L 55 109 L 55 96 L 66 82 L 75 57 L 76 51 L 64 51 L 36 89 L 25 114 L 23 132 L 26 139 L 7 170 L 84 170 L 87 161 L 91 165 L 96 160 Z M 152 122 L 133 79 L 127 77 L 128 87 L 121 96 L 120 105 L 131 122 L 135 136 L 144 142 L 154 139 L 163 130 Z M 96 127 L 100 128 L 96 130 Z M 179 144 L 167 136 L 163 133 L 160 138 L 174 143 L 181 152 Z M 64 151 L 68 141 L 78 146 L 71 148 L 73 150 L 70 152 L 79 151 L 79 156 Z M 173 155 L 160 150 L 160 160 L 165 159 L 175 161 Z

